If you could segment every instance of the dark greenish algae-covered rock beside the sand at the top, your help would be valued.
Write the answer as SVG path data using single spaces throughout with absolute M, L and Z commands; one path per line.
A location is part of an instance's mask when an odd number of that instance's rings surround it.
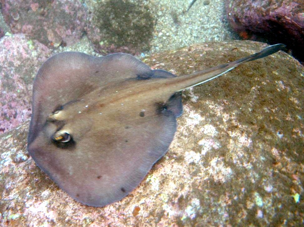
M 101 54 L 139 54 L 149 50 L 155 18 L 151 4 L 130 0 L 100 1 L 92 5 L 88 37 Z

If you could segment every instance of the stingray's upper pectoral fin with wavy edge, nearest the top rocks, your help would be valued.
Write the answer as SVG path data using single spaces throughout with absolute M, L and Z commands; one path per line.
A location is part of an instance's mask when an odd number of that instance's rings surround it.
M 80 52 L 62 52 L 51 56 L 40 67 L 33 85 L 33 115 L 28 142 L 35 138 L 46 118 L 60 106 L 82 99 L 109 83 L 151 75 L 152 70 L 129 54 L 102 57 Z

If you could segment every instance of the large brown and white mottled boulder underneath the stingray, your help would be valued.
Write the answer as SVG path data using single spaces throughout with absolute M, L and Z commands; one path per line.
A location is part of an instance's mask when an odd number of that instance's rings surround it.
M 144 61 L 183 75 L 248 56 L 252 41 L 197 44 Z M 0 225 L 299 226 L 304 67 L 284 52 L 183 93 L 167 154 L 129 196 L 75 202 L 26 151 L 29 121 L 0 137 Z

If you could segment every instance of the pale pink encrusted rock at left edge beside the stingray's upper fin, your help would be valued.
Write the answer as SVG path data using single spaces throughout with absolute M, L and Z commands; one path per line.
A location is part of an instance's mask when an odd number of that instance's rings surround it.
M 33 79 L 49 55 L 48 47 L 21 34 L 0 39 L 0 134 L 31 116 Z

